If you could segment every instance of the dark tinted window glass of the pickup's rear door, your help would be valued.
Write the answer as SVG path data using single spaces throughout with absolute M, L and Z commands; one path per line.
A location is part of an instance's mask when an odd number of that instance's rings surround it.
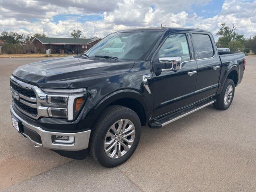
M 192 34 L 192 39 L 197 59 L 210 58 L 213 56 L 212 42 L 208 35 Z

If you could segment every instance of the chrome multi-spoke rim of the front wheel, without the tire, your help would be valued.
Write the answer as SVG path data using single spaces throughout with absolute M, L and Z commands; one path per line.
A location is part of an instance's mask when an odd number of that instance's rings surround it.
M 134 124 L 128 119 L 115 122 L 108 130 L 104 140 L 104 150 L 108 157 L 117 159 L 131 148 L 135 138 Z

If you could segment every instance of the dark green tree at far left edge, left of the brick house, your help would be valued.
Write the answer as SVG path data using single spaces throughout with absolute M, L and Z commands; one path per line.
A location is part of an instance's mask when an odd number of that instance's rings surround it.
M 25 35 L 18 34 L 12 31 L 11 32 L 4 31 L 1 33 L 0 39 L 8 44 L 18 44 L 18 43 L 24 42 Z

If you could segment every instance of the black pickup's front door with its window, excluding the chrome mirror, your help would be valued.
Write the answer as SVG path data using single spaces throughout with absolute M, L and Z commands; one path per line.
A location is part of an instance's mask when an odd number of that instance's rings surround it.
M 189 42 L 186 33 L 171 34 L 154 56 L 154 118 L 194 102 L 197 64 L 191 58 Z M 160 57 L 181 57 L 181 69 L 161 72 L 164 65 L 159 62 Z

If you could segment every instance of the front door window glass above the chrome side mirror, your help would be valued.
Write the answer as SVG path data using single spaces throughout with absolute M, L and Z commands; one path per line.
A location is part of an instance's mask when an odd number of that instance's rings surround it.
M 181 57 L 181 61 L 190 60 L 186 34 L 170 35 L 160 48 L 159 57 Z

